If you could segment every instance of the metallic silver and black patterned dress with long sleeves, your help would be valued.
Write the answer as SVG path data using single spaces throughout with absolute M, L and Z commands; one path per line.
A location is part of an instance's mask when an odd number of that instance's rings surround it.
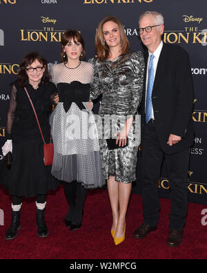
M 98 62 L 94 58 L 91 62 L 94 77 L 90 99 L 103 93 L 99 108 L 102 122 L 99 122 L 98 129 L 103 176 L 106 180 L 109 176 L 115 176 L 115 180 L 119 182 L 133 182 L 136 180 L 137 151 L 140 144 L 140 115 L 137 115 L 137 110 L 143 88 L 144 57 L 138 51 L 120 55 L 114 61 L 106 59 Z M 131 116 L 134 120 L 128 133 L 128 145 L 109 150 L 106 138 L 116 138 L 117 132 Z

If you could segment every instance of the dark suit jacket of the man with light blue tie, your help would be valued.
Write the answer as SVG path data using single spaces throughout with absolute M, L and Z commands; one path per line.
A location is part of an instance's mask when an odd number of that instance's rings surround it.
M 141 140 L 144 137 L 148 50 L 144 53 L 144 59 L 146 68 L 141 101 Z M 194 135 L 193 79 L 188 53 L 180 46 L 163 45 L 152 90 L 152 106 L 159 144 L 164 153 L 177 153 L 190 147 Z M 172 147 L 167 144 L 170 133 L 182 138 Z

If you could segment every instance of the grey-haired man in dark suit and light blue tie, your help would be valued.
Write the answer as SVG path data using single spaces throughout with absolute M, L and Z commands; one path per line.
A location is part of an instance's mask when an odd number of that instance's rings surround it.
M 164 44 L 164 18 L 145 12 L 139 19 L 139 35 L 145 53 L 144 92 L 141 102 L 142 203 L 144 223 L 134 238 L 157 229 L 158 180 L 165 158 L 171 191 L 170 232 L 167 244 L 180 245 L 188 208 L 188 162 L 193 144 L 193 79 L 188 53 Z

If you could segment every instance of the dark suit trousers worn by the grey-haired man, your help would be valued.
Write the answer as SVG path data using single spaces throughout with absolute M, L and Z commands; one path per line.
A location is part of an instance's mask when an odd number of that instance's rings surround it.
M 175 144 L 176 145 L 176 144 Z M 154 227 L 159 220 L 159 188 L 161 165 L 165 158 L 171 191 L 170 230 L 180 230 L 186 223 L 188 209 L 188 164 L 190 149 L 166 154 L 162 151 L 155 121 L 144 125 L 141 149 L 142 203 L 144 223 Z

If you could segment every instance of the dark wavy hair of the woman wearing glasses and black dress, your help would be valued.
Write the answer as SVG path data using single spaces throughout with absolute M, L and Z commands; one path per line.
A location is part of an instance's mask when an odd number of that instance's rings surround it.
M 37 52 L 30 52 L 23 57 L 21 64 L 19 65 L 19 71 L 17 76 L 17 82 L 19 86 L 26 86 L 26 84 L 28 84 L 28 75 L 26 73 L 26 68 L 36 60 L 40 62 L 45 68 L 43 77 L 41 78 L 41 83 L 48 84 L 50 82 L 50 73 L 48 73 L 47 60 Z

